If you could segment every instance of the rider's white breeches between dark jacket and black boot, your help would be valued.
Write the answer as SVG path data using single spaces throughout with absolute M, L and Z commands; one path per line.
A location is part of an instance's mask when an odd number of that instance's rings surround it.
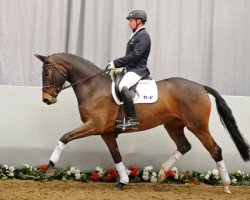
M 127 72 L 119 84 L 119 91 L 121 92 L 123 87 L 131 88 L 141 79 L 142 77 L 135 72 Z

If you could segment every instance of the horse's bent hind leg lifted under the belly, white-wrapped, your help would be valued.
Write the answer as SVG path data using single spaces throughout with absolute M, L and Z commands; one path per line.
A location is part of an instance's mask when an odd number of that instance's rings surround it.
M 161 166 L 158 174 L 158 182 L 162 182 L 166 179 L 165 172 L 168 171 L 172 165 L 181 158 L 182 155 L 187 153 L 191 149 L 191 145 L 188 142 L 185 134 L 185 125 L 178 119 L 165 124 L 164 127 L 168 131 L 170 137 L 175 142 L 177 146 L 177 151 L 175 151 L 170 158 L 168 158 Z

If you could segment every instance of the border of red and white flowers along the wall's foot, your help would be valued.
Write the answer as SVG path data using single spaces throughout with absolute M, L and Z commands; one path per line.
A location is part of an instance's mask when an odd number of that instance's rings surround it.
M 40 167 L 33 167 L 28 164 L 22 165 L 16 169 L 14 166 L 0 165 L 0 180 L 20 179 L 20 180 L 62 180 L 62 181 L 82 181 L 82 182 L 117 182 L 119 175 L 116 169 L 111 168 L 105 170 L 101 167 L 96 167 L 95 170 L 90 172 L 81 172 L 76 167 L 68 167 L 66 169 L 56 169 L 54 174 L 47 178 L 45 171 L 48 169 L 47 165 Z M 152 166 L 146 166 L 140 170 L 136 166 L 131 166 L 127 169 L 129 181 L 131 183 L 140 182 L 157 182 L 157 172 L 154 171 Z M 165 172 L 165 183 L 175 184 L 200 184 L 205 183 L 209 185 L 221 185 L 219 171 L 214 169 L 207 173 L 200 173 L 197 171 L 192 172 L 179 172 L 176 167 L 172 167 Z M 244 173 L 240 170 L 234 174 L 230 174 L 231 185 L 247 185 L 250 186 L 250 174 Z

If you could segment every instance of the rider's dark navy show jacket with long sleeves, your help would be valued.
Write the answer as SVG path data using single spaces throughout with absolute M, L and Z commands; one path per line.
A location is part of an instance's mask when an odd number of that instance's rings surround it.
M 127 72 L 146 77 L 150 74 L 147 60 L 150 53 L 151 40 L 145 28 L 136 32 L 127 43 L 126 55 L 114 60 L 115 67 L 125 67 Z

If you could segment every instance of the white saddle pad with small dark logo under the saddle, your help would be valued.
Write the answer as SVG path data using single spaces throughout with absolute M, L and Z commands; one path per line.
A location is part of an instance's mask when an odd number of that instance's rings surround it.
M 114 82 L 112 82 L 111 91 L 112 91 L 112 96 L 115 102 L 118 105 L 123 104 L 123 102 L 121 102 L 116 96 Z M 136 87 L 136 91 L 137 91 L 136 95 L 133 99 L 135 104 L 136 103 L 154 103 L 158 99 L 158 89 L 157 89 L 157 85 L 154 79 L 139 81 Z

